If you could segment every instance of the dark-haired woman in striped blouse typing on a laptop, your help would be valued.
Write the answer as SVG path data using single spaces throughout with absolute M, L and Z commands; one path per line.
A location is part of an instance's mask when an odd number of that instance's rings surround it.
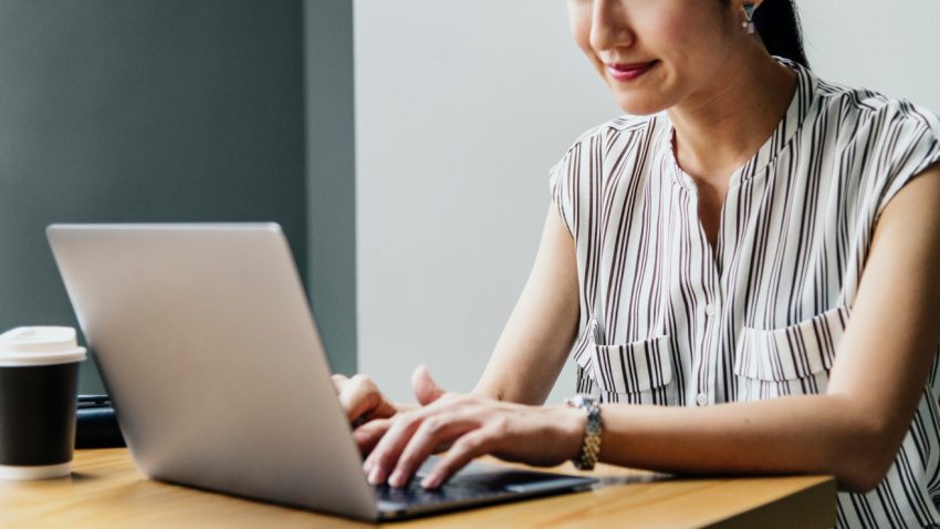
M 940 121 L 817 79 L 788 0 L 568 11 L 628 115 L 553 168 L 472 394 L 419 369 L 420 406 L 397 406 L 335 377 L 369 480 L 443 447 L 426 487 L 483 454 L 831 474 L 839 526 L 940 523 Z M 542 406 L 570 355 L 603 405 Z

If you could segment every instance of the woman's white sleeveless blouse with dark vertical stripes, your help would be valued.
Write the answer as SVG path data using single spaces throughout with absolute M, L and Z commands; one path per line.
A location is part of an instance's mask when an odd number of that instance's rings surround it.
M 796 94 L 732 176 L 716 247 L 666 113 L 585 133 L 551 170 L 577 252 L 578 392 L 707 406 L 826 391 L 875 224 L 940 159 L 940 121 L 780 59 Z M 839 527 L 940 525 L 940 363 L 887 477 Z

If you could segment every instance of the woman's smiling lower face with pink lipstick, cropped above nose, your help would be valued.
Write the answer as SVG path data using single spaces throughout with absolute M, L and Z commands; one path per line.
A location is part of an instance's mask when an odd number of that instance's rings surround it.
M 740 0 L 568 0 L 568 14 L 578 46 L 635 115 L 716 90 L 748 38 Z

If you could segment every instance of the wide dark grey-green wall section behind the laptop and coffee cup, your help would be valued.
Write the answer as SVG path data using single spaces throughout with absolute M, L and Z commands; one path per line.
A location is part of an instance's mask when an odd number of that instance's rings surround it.
M 307 270 L 302 8 L 0 1 L 0 329 L 75 324 L 50 222 L 276 220 Z

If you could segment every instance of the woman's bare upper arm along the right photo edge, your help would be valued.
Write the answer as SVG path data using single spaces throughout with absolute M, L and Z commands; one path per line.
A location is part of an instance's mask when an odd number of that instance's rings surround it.
M 940 343 L 940 164 L 887 204 L 827 392 L 865 422 L 884 468 L 897 454 Z

